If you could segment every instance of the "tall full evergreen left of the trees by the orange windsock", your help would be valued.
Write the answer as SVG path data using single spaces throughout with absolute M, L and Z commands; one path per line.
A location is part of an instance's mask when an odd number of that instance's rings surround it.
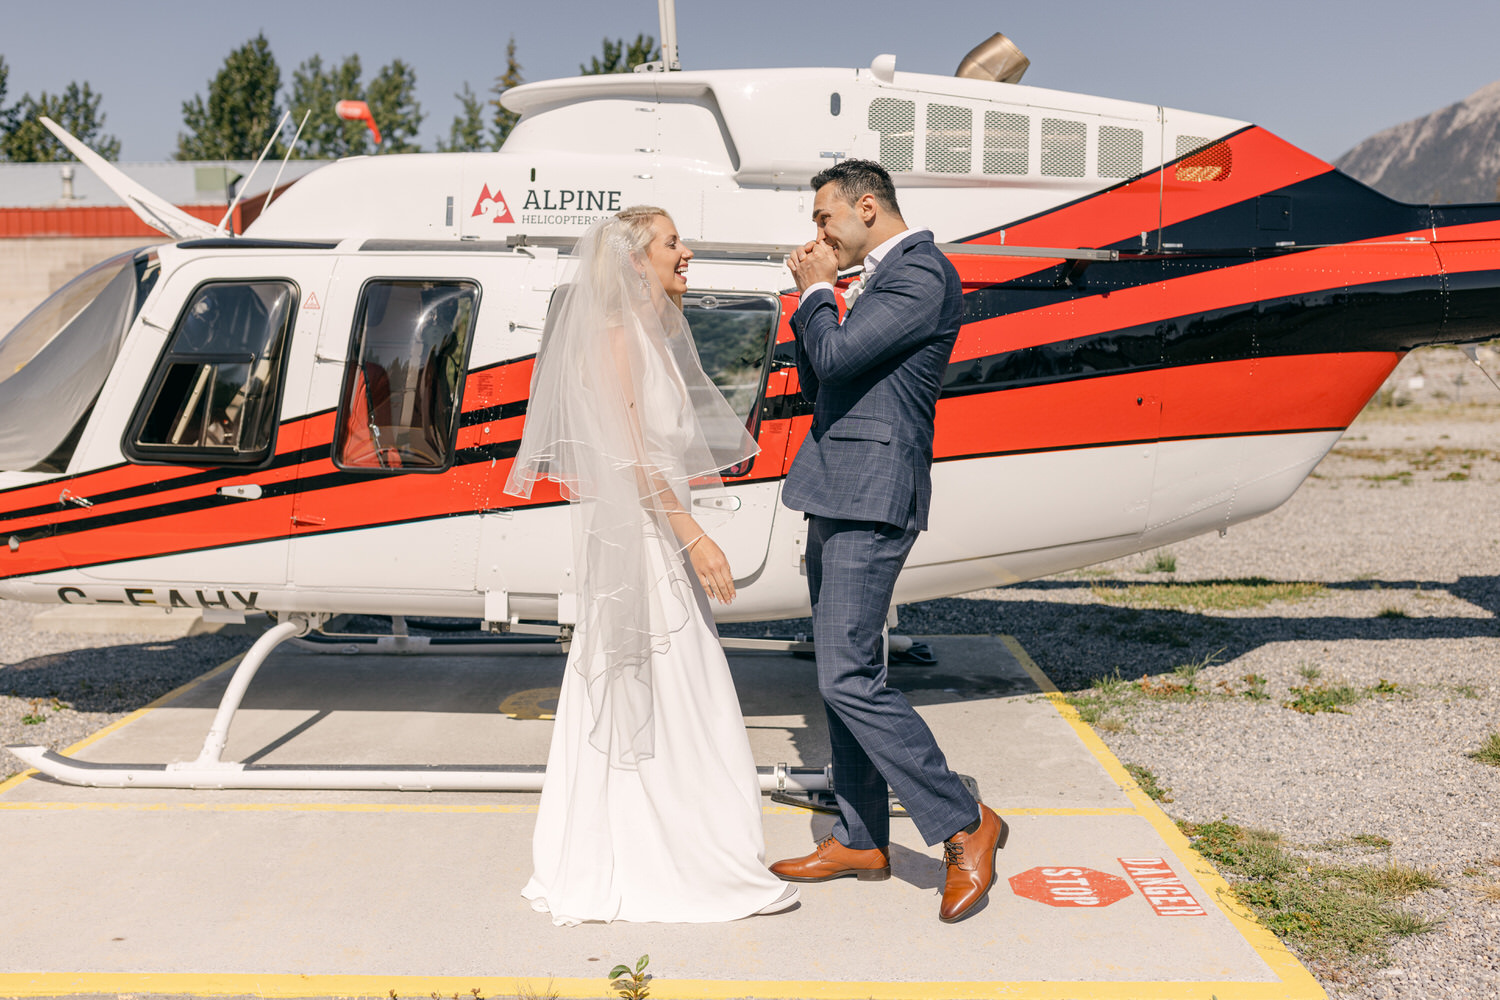
M 208 100 L 198 94 L 183 102 L 183 126 L 177 133 L 177 159 L 218 160 L 255 159 L 280 118 L 276 91 L 280 90 L 280 67 L 266 34 L 230 52 L 213 79 Z M 278 142 L 273 156 L 285 153 Z

